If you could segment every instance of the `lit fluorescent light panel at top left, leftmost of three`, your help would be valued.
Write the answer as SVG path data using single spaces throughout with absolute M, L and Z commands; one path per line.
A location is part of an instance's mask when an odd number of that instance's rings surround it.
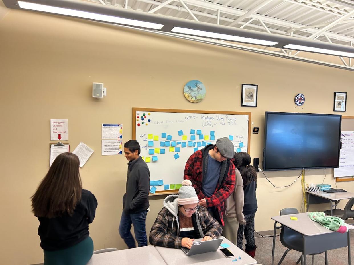
M 24 9 L 29 9 L 29 10 L 43 11 L 48 13 L 61 14 L 61 15 L 67 15 L 72 17 L 79 17 L 79 18 L 88 18 L 88 19 L 94 19 L 94 20 L 99 20 L 104 22 L 131 25 L 131 26 L 142 27 L 142 28 L 161 29 L 162 27 L 164 27 L 164 25 L 157 24 L 157 23 L 108 16 L 108 15 L 73 10 L 73 9 L 63 8 L 63 7 L 40 5 L 40 4 L 34 4 L 34 3 L 29 3 L 24 1 L 18 1 L 17 3 L 19 7 Z

